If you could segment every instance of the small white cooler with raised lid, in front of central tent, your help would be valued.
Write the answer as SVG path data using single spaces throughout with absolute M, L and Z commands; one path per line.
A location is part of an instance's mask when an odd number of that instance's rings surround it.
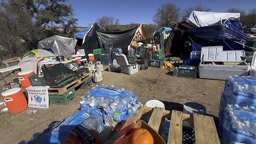
M 126 55 L 118 54 L 116 55 L 116 61 L 120 65 L 121 73 L 133 75 L 139 72 L 138 63 L 128 62 Z

